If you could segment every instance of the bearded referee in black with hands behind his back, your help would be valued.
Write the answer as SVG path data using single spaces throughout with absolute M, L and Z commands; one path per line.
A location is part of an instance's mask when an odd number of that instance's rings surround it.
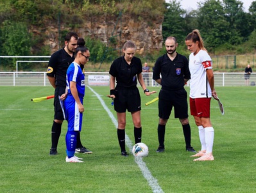
M 189 72 L 189 61 L 185 56 L 178 54 L 176 48 L 178 43 L 175 37 L 166 38 L 166 54 L 160 56 L 155 63 L 153 79 L 162 86 L 158 98 L 158 142 L 157 152 L 164 151 L 164 135 L 166 123 L 174 107 L 175 118 L 182 123 L 185 137 L 186 151 L 196 152 L 191 146 L 191 127 L 188 120 L 187 91 L 184 85 L 191 74 Z

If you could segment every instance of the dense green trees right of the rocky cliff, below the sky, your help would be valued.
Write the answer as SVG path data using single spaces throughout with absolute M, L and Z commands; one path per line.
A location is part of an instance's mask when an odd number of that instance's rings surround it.
M 180 2 L 166 3 L 163 33 L 176 36 L 183 43 L 193 29 L 199 29 L 205 46 L 212 54 L 254 52 L 256 48 L 256 1 L 248 12 L 239 0 L 206 0 L 197 10 L 184 10 Z

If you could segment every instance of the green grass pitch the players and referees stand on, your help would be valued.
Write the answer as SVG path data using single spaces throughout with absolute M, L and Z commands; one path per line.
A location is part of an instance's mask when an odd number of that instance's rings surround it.
M 91 89 L 86 88 L 82 143 L 93 151 L 79 155 L 85 163 L 65 162 L 64 122 L 58 155 L 49 156 L 53 99 L 31 102 L 31 98 L 53 95 L 50 86 L 1 86 L 0 94 L 0 192 L 153 192 L 130 153 L 121 157 L 116 128 Z M 116 117 L 108 87 L 92 87 Z M 166 127 L 166 151 L 158 146 L 157 102 L 145 106 L 157 93 L 142 98 L 142 142 L 149 148 L 142 158 L 162 192 L 256 192 L 256 100 L 255 87 L 217 87 L 225 115 L 212 99 L 211 121 L 215 130 L 213 162 L 193 162 L 185 151 L 182 126 L 173 113 Z M 189 93 L 189 88 L 186 88 Z M 198 128 L 189 116 L 192 146 L 200 150 Z M 134 143 L 130 113 L 126 134 Z M 128 150 L 128 148 L 127 148 Z M 156 192 L 156 191 L 155 191 Z

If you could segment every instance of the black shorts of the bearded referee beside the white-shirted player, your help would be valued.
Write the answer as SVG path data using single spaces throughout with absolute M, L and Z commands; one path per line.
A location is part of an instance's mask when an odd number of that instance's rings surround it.
M 175 118 L 188 118 L 187 91 L 179 89 L 176 91 L 160 90 L 158 101 L 158 116 L 164 120 L 169 119 L 174 107 Z

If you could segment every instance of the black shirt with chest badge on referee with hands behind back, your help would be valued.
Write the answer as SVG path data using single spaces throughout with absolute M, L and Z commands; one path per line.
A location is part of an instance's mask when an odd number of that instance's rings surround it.
M 184 79 L 191 79 L 189 72 L 189 61 L 181 54 L 176 55 L 171 61 L 167 54 L 160 56 L 155 63 L 153 79 L 160 79 L 163 89 L 177 90 L 184 87 Z

